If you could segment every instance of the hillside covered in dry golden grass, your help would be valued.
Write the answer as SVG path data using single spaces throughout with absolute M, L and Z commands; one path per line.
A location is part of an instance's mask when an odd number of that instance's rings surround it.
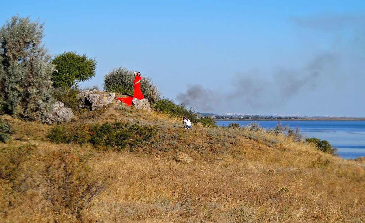
M 12 134 L 0 143 L 0 222 L 365 221 L 365 162 L 283 135 L 185 130 L 180 119 L 117 103 L 60 125 L 157 128 L 118 151 L 51 143 L 54 126 L 1 119 Z

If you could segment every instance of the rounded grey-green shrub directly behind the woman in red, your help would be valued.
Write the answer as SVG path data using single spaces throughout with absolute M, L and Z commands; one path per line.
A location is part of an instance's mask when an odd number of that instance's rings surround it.
M 151 104 L 160 99 L 161 92 L 154 85 L 150 77 L 141 76 L 141 91 L 143 96 L 149 100 Z M 104 90 L 118 92 L 122 94 L 133 95 L 133 81 L 135 74 L 127 68 L 114 68 L 104 76 Z

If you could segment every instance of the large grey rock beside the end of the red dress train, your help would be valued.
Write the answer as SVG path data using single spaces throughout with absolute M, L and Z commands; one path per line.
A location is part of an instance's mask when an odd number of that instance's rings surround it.
M 80 107 L 90 107 L 90 110 L 99 110 L 105 105 L 111 104 L 115 93 L 96 93 L 96 91 L 81 91 L 77 97 L 80 99 Z

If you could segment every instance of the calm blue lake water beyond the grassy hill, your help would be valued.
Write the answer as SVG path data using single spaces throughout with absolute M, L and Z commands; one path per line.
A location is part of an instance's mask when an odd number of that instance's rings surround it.
M 256 122 L 264 128 L 273 128 L 277 121 L 234 121 L 217 120 L 217 126 L 228 126 L 231 122 L 246 126 Z M 327 140 L 344 159 L 365 156 L 365 121 L 281 121 L 291 128 L 299 127 L 305 138 Z

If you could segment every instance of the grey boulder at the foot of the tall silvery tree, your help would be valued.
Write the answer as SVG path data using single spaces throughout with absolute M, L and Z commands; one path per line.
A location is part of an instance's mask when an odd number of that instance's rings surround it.
M 72 118 L 75 118 L 72 109 L 66 108 L 64 103 L 56 101 L 51 105 L 51 111 L 42 118 L 42 122 L 47 124 L 60 124 L 69 122 Z

